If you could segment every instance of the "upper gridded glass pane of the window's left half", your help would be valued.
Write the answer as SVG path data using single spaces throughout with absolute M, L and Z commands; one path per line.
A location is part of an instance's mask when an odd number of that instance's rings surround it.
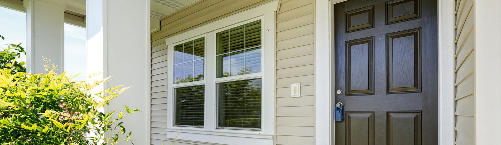
M 174 46 L 174 84 L 203 80 L 204 38 Z

